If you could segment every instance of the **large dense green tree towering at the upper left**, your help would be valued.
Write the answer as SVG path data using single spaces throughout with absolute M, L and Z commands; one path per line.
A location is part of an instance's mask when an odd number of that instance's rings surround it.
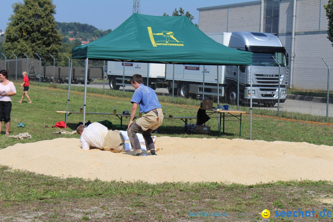
M 57 55 L 62 48 L 62 36 L 56 30 L 55 5 L 52 0 L 24 0 L 12 5 L 6 28 L 4 48 L 11 57 L 25 53 L 28 56 Z

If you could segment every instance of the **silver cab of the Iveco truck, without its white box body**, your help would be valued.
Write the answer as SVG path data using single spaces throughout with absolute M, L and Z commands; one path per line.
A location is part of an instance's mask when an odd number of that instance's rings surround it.
M 250 99 L 250 75 L 252 75 L 253 102 L 272 107 L 277 103 L 280 94 L 280 102 L 283 103 L 288 84 L 288 59 L 281 41 L 270 33 L 232 32 L 229 47 L 253 53 L 251 71 L 250 66 L 239 66 L 239 98 L 244 98 L 244 101 Z M 237 98 L 237 76 L 238 66 L 226 66 L 226 96 L 230 101 Z M 280 92 L 278 92 L 279 81 Z

